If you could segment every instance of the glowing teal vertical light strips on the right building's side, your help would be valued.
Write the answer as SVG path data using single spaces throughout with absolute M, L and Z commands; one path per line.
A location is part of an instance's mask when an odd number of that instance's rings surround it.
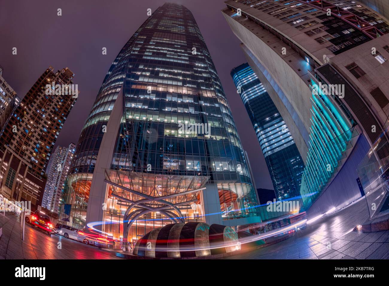
M 301 179 L 300 193 L 308 209 L 331 177 L 352 137 L 352 125 L 340 108 L 311 80 L 312 109 L 307 162 Z M 318 91 L 318 92 L 316 92 Z

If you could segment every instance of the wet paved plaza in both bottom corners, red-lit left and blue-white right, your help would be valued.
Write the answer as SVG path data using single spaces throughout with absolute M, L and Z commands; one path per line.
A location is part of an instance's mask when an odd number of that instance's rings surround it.
M 226 259 L 388 259 L 389 231 L 353 231 L 368 219 L 366 201 L 322 218 L 293 237 L 250 253 Z M 19 217 L 0 214 L 3 235 L 0 259 L 120 259 L 112 250 L 98 249 L 57 235 L 47 235 L 26 225 L 25 240 L 20 238 Z M 61 242 L 62 249 L 58 249 Z

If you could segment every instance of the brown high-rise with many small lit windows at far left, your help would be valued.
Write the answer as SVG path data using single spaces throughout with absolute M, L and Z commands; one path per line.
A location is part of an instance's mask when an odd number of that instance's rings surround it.
M 74 74 L 47 68 L 13 112 L 0 137 L 2 194 L 13 200 L 42 202 L 51 150 L 72 109 Z

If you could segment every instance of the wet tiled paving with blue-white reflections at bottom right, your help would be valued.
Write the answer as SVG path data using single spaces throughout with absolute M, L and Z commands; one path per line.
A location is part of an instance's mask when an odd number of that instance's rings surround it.
M 323 218 L 293 237 L 227 259 L 389 259 L 389 231 L 352 231 L 367 218 L 366 200 Z

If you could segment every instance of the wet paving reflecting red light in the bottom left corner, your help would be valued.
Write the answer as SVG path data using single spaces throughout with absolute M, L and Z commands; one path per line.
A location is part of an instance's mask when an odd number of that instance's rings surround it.
M 65 239 L 25 226 L 25 240 L 20 238 L 20 220 L 12 213 L 0 213 L 0 259 L 120 259 L 115 252 L 100 250 L 81 242 Z M 58 249 L 61 242 L 62 249 Z

